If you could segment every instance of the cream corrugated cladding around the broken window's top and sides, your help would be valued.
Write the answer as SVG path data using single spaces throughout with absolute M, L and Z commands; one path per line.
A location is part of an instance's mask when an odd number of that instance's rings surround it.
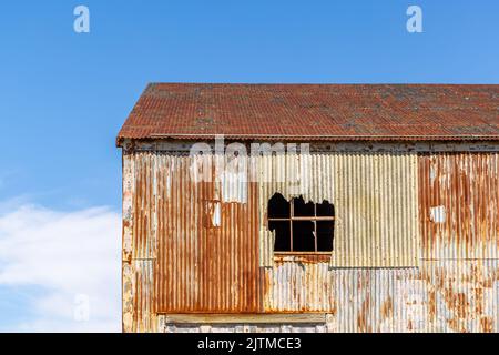
M 418 264 L 415 153 L 267 155 L 258 170 L 262 266 L 273 265 L 274 235 L 265 220 L 267 202 L 277 192 L 335 204 L 332 266 Z

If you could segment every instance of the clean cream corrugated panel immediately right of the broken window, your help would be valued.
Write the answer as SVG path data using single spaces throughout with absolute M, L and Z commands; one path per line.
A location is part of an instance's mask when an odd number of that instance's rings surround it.
M 417 155 L 345 153 L 337 161 L 332 266 L 417 266 Z

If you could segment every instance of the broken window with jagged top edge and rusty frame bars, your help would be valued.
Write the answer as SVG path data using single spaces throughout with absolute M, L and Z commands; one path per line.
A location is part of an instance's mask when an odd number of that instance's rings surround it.
M 275 233 L 276 252 L 332 252 L 335 209 L 322 203 L 305 202 L 303 196 L 287 201 L 276 193 L 268 201 L 268 230 Z

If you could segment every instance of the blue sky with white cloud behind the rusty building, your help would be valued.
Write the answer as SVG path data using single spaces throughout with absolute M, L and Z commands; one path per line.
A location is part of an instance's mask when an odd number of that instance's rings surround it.
M 73 31 L 78 4 L 90 9 L 90 33 Z M 422 9 L 422 33 L 406 31 L 410 4 Z M 114 139 L 147 82 L 499 83 L 498 14 L 496 0 L 2 3 L 0 245 L 18 245 L 27 231 L 29 243 L 40 242 L 32 231 L 45 231 L 52 247 L 93 233 L 95 245 L 109 243 L 102 257 L 119 256 Z M 94 209 L 109 217 L 102 231 L 116 235 L 85 230 L 89 221 L 101 223 Z M 33 216 L 47 214 L 37 229 Z M 64 224 L 68 216 L 77 224 Z M 10 225 L 14 220 L 20 227 Z M 64 227 L 72 236 L 59 240 L 54 233 Z M 88 252 L 83 263 L 101 262 Z M 52 322 L 43 295 L 72 297 L 73 290 L 59 278 L 12 274 L 23 257 L 0 253 L 0 331 L 67 329 L 69 313 Z M 118 270 L 114 258 L 109 265 Z M 74 273 L 84 270 L 77 265 Z M 116 277 L 104 298 L 99 285 L 83 284 L 95 288 L 88 292 L 94 303 L 119 306 L 119 270 Z M 115 324 L 111 315 L 94 328 Z

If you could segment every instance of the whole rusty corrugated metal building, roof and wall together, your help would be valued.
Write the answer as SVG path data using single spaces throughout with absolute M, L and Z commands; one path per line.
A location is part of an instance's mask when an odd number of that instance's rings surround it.
M 123 329 L 499 332 L 498 99 L 499 85 L 147 85 L 118 136 Z

